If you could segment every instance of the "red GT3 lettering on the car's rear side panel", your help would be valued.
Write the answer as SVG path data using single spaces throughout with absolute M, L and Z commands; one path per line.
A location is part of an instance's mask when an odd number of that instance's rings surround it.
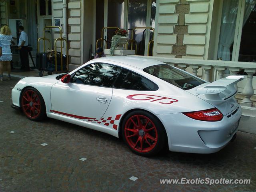
M 128 95 L 126 98 L 130 100 L 137 100 L 137 101 L 149 101 L 155 102 L 160 101 L 161 104 L 172 104 L 173 102 L 178 102 L 177 99 L 172 99 L 168 97 L 162 97 L 157 95 L 146 95 L 146 94 L 135 94 L 135 95 Z

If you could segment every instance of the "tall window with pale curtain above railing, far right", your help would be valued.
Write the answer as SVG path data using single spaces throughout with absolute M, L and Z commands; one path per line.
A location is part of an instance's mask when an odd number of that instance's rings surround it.
M 237 61 L 256 62 L 256 0 L 224 0 L 222 8 L 222 20 L 220 26 L 220 38 L 218 46 L 218 58 L 225 61 L 232 60 L 233 49 L 240 50 Z M 243 6 L 243 7 L 241 7 Z M 241 13 L 238 15 L 238 10 Z M 235 33 L 241 31 L 236 26 L 237 19 L 243 21 L 242 36 L 238 37 L 237 45 L 234 44 Z M 240 27 L 241 28 L 241 27 Z M 238 47 L 240 45 L 240 47 Z

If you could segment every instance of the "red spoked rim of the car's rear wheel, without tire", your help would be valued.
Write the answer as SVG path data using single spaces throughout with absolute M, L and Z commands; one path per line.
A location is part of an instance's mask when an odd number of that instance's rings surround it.
M 155 124 L 144 115 L 134 115 L 126 121 L 124 136 L 130 147 L 140 153 L 150 152 L 158 141 Z

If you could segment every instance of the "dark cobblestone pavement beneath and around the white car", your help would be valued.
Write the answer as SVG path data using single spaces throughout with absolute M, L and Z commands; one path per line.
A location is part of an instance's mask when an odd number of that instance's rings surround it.
M 256 191 L 256 135 L 238 132 L 234 142 L 215 154 L 165 150 L 145 158 L 101 132 L 53 119 L 28 120 L 10 108 L 17 81 L 0 83 L 0 192 Z M 138 179 L 129 180 L 131 176 Z M 160 184 L 160 179 L 182 177 L 251 183 Z

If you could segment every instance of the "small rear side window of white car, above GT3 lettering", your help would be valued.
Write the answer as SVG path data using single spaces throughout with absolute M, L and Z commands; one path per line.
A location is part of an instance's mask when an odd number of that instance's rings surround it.
M 157 90 L 158 86 L 139 74 L 122 69 L 114 84 L 114 88 L 153 91 Z

